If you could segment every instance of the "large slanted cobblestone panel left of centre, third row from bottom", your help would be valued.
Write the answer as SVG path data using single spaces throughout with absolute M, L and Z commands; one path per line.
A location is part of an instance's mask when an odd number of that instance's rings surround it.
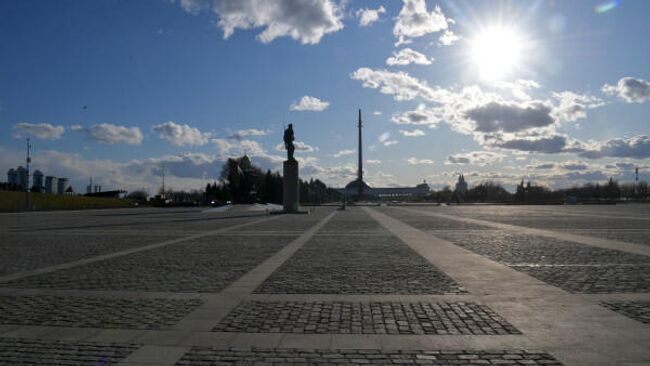
M 8 287 L 219 292 L 293 236 L 214 235 L 9 282 Z

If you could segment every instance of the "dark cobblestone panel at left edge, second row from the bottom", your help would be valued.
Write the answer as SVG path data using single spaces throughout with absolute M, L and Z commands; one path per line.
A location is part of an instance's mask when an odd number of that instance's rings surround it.
M 0 296 L 0 324 L 164 329 L 202 303 L 199 299 Z

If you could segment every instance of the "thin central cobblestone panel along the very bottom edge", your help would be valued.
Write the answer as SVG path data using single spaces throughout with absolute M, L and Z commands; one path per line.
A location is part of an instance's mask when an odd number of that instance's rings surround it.
M 561 365 L 541 351 L 379 351 L 193 347 L 177 363 L 194 365 Z

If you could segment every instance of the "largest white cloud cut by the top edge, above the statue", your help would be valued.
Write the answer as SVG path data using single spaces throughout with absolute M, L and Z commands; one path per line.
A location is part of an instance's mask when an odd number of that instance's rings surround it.
M 263 28 L 262 43 L 291 37 L 302 44 L 317 44 L 328 33 L 343 28 L 342 9 L 332 0 L 181 0 L 192 13 L 212 10 L 228 39 L 236 29 Z

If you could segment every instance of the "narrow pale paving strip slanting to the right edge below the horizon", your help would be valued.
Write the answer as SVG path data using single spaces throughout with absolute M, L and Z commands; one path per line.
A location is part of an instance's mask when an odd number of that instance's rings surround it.
M 458 217 L 456 215 L 441 214 L 437 212 L 421 211 L 421 210 L 415 210 L 415 209 L 409 209 L 403 207 L 397 207 L 397 208 L 403 211 L 416 213 L 419 215 L 439 217 L 443 219 L 456 220 L 456 221 L 466 222 L 470 224 L 490 226 L 497 229 L 516 231 L 517 233 L 520 234 L 544 236 L 547 238 L 571 241 L 574 243 L 585 244 L 585 245 L 590 245 L 599 248 L 614 249 L 614 250 L 624 251 L 628 253 L 650 256 L 650 246 L 647 245 L 628 243 L 619 240 L 602 239 L 602 238 L 596 238 L 596 237 L 585 236 L 585 235 L 570 234 L 570 233 L 554 231 L 554 230 L 536 229 L 527 226 L 502 224 L 494 221 L 471 219 L 468 217 Z

